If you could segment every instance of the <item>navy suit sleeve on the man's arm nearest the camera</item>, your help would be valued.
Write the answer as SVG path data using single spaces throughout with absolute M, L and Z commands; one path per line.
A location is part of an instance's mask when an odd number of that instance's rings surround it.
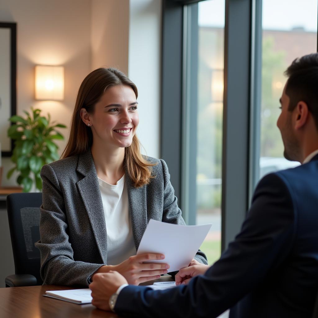
M 166 291 L 125 287 L 115 311 L 138 317 L 217 317 L 286 259 L 294 243 L 295 224 L 287 182 L 268 175 L 255 191 L 241 232 L 204 275 Z

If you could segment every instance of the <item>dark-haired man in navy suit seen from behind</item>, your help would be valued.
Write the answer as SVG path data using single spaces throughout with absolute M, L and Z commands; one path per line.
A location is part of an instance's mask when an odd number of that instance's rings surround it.
M 193 265 L 164 291 L 93 276 L 93 305 L 137 317 L 311 317 L 318 289 L 318 54 L 285 72 L 277 121 L 284 156 L 302 163 L 265 176 L 241 232 L 211 267 Z M 109 300 L 110 299 L 110 300 Z

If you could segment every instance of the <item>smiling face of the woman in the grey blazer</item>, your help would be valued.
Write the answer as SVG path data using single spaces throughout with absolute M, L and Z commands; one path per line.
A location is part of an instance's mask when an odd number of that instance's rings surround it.
M 129 147 L 139 123 L 137 105 L 135 92 L 130 86 L 107 88 L 96 103 L 94 114 L 88 115 L 93 142 L 98 140 L 98 144 L 115 148 Z

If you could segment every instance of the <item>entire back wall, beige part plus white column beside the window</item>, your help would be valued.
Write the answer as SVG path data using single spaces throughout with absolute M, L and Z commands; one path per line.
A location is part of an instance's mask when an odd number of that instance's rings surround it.
M 0 21 L 17 22 L 17 114 L 31 106 L 69 127 L 79 85 L 93 69 L 119 68 L 135 81 L 138 135 L 159 156 L 161 0 L 0 0 Z M 65 67 L 65 99 L 34 100 L 34 66 Z M 68 137 L 68 128 L 61 129 Z M 66 141 L 58 142 L 59 153 Z M 12 167 L 2 158 L 3 186 Z

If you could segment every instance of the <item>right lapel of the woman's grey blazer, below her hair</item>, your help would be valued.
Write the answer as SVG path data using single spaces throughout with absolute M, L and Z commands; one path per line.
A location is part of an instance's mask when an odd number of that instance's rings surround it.
M 146 230 L 147 220 L 147 203 L 146 203 L 146 186 L 135 188 L 132 180 L 126 170 L 126 186 L 128 193 L 129 213 L 134 235 L 135 247 L 138 250 L 142 235 Z

